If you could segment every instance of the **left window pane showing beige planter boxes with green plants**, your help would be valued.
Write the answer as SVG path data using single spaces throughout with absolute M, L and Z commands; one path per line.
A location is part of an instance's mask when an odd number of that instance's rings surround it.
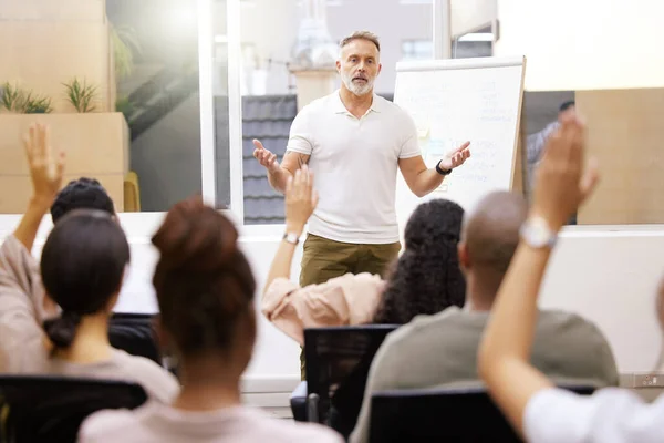
M 68 153 L 65 179 L 97 178 L 118 212 L 164 212 L 205 194 L 201 145 L 211 133 L 201 133 L 197 2 L 9 4 L 2 27 L 23 43 L 21 51 L 0 49 L 2 94 L 43 100 L 31 107 L 17 100 L 0 115 L 0 213 L 24 209 L 30 182 L 14 141 L 38 117 Z

